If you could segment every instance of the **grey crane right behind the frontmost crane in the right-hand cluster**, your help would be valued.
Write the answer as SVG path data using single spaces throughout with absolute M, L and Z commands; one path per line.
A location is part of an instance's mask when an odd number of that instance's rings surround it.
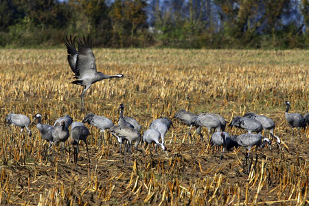
M 262 134 L 263 129 L 262 124 L 258 120 L 252 119 L 250 117 L 234 117 L 229 126 L 231 128 L 233 126 L 237 128 L 242 128 L 244 130 L 247 130 L 248 133 L 256 132 L 260 135 Z

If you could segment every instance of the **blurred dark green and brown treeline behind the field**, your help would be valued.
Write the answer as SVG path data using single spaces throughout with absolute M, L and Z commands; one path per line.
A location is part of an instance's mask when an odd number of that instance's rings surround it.
M 308 24 L 309 0 L 0 1 L 0 47 L 306 48 Z

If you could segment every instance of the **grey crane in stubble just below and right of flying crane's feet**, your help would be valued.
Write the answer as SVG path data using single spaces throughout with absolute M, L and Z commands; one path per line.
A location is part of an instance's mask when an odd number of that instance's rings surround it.
M 82 122 L 91 124 L 97 128 L 100 128 L 100 136 L 102 134 L 102 142 L 104 143 L 104 130 L 111 128 L 114 126 L 111 119 L 108 119 L 107 117 L 102 117 L 95 115 L 93 113 L 89 113 L 82 119 Z

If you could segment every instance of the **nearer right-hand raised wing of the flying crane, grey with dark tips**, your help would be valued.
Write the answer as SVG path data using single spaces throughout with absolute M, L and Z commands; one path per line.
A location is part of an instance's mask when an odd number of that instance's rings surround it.
M 78 43 L 78 56 L 76 60 L 76 76 L 85 77 L 93 76 L 97 71 L 95 67 L 95 56 L 93 55 L 91 49 L 90 36 L 85 38 L 83 36 L 83 41 L 77 41 Z

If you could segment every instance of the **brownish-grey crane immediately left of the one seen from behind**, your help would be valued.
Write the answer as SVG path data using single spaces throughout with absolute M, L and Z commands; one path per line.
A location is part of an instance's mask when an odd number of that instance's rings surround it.
M 54 130 L 52 130 L 54 146 L 56 146 L 58 142 L 62 142 L 62 152 L 65 141 L 69 139 L 69 134 L 70 134 L 69 129 L 65 125 L 65 119 L 62 119 L 59 123 L 57 123 L 56 126 L 54 126 Z

